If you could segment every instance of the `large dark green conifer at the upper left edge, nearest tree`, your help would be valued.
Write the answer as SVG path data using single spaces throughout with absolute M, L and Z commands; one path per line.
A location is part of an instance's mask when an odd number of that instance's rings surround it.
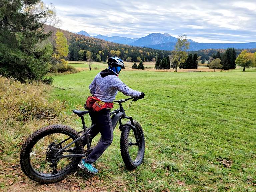
M 50 37 L 44 33 L 46 11 L 31 15 L 22 10 L 39 0 L 2 0 L 0 2 L 0 74 L 20 81 L 41 79 L 50 69 L 52 46 L 40 42 Z M 37 46 L 39 45 L 40 46 Z

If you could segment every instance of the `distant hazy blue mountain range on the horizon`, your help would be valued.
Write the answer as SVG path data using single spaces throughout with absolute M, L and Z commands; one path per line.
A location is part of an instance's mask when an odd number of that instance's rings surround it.
M 103 39 L 105 41 L 126 44 L 131 46 L 139 46 L 139 47 L 148 47 L 153 49 L 160 50 L 173 50 L 175 43 L 177 42 L 177 38 L 171 36 L 168 33 L 151 33 L 145 37 L 141 38 L 128 38 L 128 37 L 120 37 L 120 36 L 104 36 L 104 35 L 96 35 L 91 36 L 86 31 L 80 31 L 77 34 L 84 35 L 88 37 Z M 250 43 L 197 43 L 192 39 L 188 39 L 190 42 L 189 51 L 197 51 L 200 49 L 227 49 L 229 47 L 234 47 L 236 49 L 252 49 L 256 48 L 256 42 Z

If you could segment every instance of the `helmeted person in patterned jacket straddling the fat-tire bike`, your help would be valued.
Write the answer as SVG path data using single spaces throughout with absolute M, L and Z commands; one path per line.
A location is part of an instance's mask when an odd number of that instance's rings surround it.
M 92 139 L 98 135 L 98 133 L 100 133 L 102 137 L 92 152 L 86 158 L 82 159 L 78 165 L 81 169 L 90 173 L 95 174 L 98 172 L 98 169 L 93 167 L 92 163 L 94 163 L 112 143 L 113 128 L 110 118 L 110 108 L 112 107 L 108 106 L 111 106 L 118 91 L 127 96 L 137 97 L 137 99 L 142 99 L 145 96 L 143 92 L 129 88 L 118 78 L 121 69 L 124 69 L 123 60 L 118 57 L 110 57 L 108 59 L 108 68 L 98 73 L 89 86 L 93 98 L 97 99 L 96 102 L 99 105 L 102 103 L 107 104 L 106 108 L 100 109 L 99 111 L 96 109 L 89 110 L 92 125 L 96 125 L 88 132 L 89 141 L 91 143 Z

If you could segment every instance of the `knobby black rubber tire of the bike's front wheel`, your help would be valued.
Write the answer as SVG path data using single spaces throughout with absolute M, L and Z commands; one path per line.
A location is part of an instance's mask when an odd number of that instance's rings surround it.
M 133 162 L 130 155 L 129 155 L 129 149 L 128 149 L 128 137 L 131 127 L 126 125 L 122 128 L 121 138 L 120 138 L 120 149 L 121 149 L 121 156 L 124 161 L 124 164 L 129 170 L 137 168 L 143 161 L 144 154 L 145 154 L 145 138 L 144 133 L 141 125 L 137 121 L 133 121 L 134 126 L 140 130 L 141 132 L 141 149 L 140 150 L 140 159 L 138 162 Z M 131 125 L 131 122 L 128 121 L 127 124 Z

